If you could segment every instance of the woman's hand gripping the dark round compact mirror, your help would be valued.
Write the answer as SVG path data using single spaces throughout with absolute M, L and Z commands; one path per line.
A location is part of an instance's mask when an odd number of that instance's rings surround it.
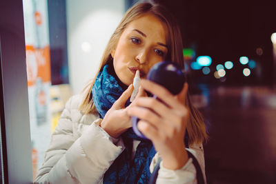
M 137 116 L 138 129 L 150 139 L 161 155 L 164 167 L 177 170 L 188 161 L 184 136 L 188 122 L 185 106 L 188 84 L 177 96 L 152 81 L 141 80 L 141 87 L 162 101 L 139 96 L 128 108 L 128 116 Z

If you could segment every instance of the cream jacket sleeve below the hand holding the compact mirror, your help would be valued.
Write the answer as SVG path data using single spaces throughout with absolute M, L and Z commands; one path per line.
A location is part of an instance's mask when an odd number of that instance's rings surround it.
M 189 150 L 199 162 L 202 173 L 204 175 L 204 181 L 206 183 L 205 164 L 204 164 L 204 151 L 202 145 L 190 146 Z M 150 172 L 154 170 L 155 165 L 159 160 L 159 154 L 157 153 L 152 159 L 150 164 Z M 160 169 L 157 176 L 157 184 L 169 184 L 169 183 L 185 183 L 185 184 L 197 184 L 196 170 L 193 165 L 193 159 L 188 159 L 187 163 L 179 170 L 168 170 L 163 167 L 162 161 L 160 163 Z

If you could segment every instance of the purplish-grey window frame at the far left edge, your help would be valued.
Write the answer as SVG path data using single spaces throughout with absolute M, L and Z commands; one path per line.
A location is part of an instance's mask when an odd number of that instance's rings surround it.
M 32 146 L 23 1 L 1 0 L 1 152 L 3 183 L 32 183 Z

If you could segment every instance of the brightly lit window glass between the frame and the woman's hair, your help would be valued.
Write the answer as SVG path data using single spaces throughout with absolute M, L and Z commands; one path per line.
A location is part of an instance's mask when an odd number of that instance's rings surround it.
M 23 12 L 35 178 L 66 101 L 97 72 L 125 1 L 23 0 Z

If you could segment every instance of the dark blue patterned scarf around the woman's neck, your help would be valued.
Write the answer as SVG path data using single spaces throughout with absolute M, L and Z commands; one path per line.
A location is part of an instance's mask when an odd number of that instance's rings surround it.
M 112 62 L 103 67 L 97 75 L 92 88 L 92 96 L 95 106 L 103 118 L 113 103 L 119 99 L 124 92 L 119 84 L 119 79 L 115 74 Z M 126 102 L 126 106 L 130 101 Z M 150 179 L 150 163 L 156 151 L 150 141 L 140 139 L 132 130 L 128 129 L 121 135 L 126 149 L 122 152 L 114 163 L 104 174 L 103 183 L 148 183 Z M 141 141 L 135 152 L 134 159 L 131 158 L 133 139 Z

